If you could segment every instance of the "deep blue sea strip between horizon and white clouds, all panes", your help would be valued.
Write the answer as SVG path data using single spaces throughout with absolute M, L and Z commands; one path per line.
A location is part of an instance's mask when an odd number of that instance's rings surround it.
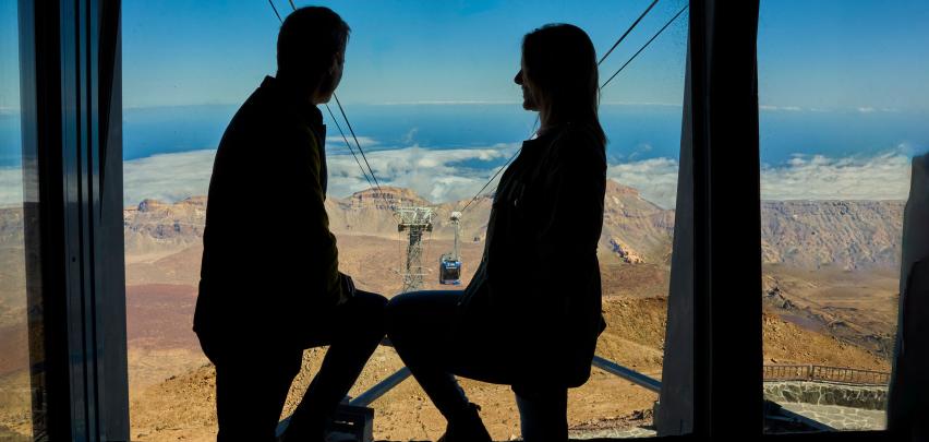
M 129 108 L 123 111 L 123 158 L 215 148 L 237 105 Z M 333 106 L 333 110 L 338 110 Z M 328 134 L 338 136 L 325 108 Z M 534 112 L 518 104 L 346 105 L 371 150 L 418 145 L 429 150 L 517 143 L 529 136 Z M 338 115 L 338 114 L 337 114 Z M 677 158 L 681 108 L 673 105 L 601 106 L 611 162 Z M 348 135 L 348 130 L 342 123 Z M 929 147 L 929 112 L 762 110 L 761 160 L 779 165 L 796 154 L 868 156 Z M 19 115 L 0 115 L 0 167 L 19 166 Z M 333 153 L 345 143 L 329 143 Z M 735 147 L 734 147 L 735 148 Z M 486 164 L 493 167 L 493 164 Z

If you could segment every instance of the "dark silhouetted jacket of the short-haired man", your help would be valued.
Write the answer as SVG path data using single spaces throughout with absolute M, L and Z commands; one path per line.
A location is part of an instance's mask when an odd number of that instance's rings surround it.
M 202 343 L 303 347 L 346 300 L 324 207 L 325 139 L 319 110 L 269 76 L 232 118 L 209 181 Z

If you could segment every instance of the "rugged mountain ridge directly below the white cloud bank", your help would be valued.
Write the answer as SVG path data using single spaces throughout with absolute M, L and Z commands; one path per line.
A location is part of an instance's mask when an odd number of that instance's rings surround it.
M 491 203 L 491 195 L 482 195 L 464 213 L 463 242 L 483 240 Z M 337 235 L 400 239 L 393 208 L 431 206 L 435 212 L 431 237 L 450 239 L 454 230 L 449 215 L 466 204 L 433 204 L 411 190 L 384 187 L 383 191 L 370 189 L 346 199 L 329 198 L 326 208 Z M 902 201 L 764 201 L 760 207 L 762 261 L 801 268 L 894 270 L 900 262 L 903 207 Z M 174 204 L 146 200 L 126 208 L 126 255 L 150 261 L 197 243 L 205 211 L 203 196 Z M 242 216 L 255 216 L 244 202 Z M 600 250 L 628 263 L 667 265 L 674 219 L 674 211 L 608 180 Z

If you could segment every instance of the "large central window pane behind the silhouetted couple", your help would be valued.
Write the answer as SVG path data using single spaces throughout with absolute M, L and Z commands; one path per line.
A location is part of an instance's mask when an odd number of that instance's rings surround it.
M 298 2 L 302 3 L 302 2 Z M 430 1 L 333 7 L 352 27 L 337 89 L 382 189 L 360 171 L 354 140 L 335 101 L 327 126 L 329 227 L 339 268 L 360 289 L 391 297 L 411 286 L 462 289 L 484 250 L 492 177 L 534 130 L 514 75 L 522 36 L 552 22 L 587 31 L 599 55 L 651 3 Z M 288 2 L 275 1 L 278 12 Z M 299 5 L 299 4 L 298 4 Z M 608 79 L 687 5 L 661 2 L 602 64 Z M 214 369 L 191 332 L 200 280 L 207 186 L 226 126 L 265 75 L 275 73 L 279 23 L 267 2 L 222 8 L 126 2 L 123 11 L 124 203 L 132 437 L 210 438 Z M 598 355 L 660 380 L 680 146 L 687 13 L 679 14 L 603 89 L 608 181 L 599 260 L 607 328 Z M 256 152 L 256 155 L 260 153 Z M 491 180 L 486 188 L 482 187 Z M 442 284 L 460 212 L 459 284 Z M 386 200 L 386 202 L 385 202 Z M 240 202 L 249 220 L 287 207 Z M 294 202 L 299 204 L 299 202 Z M 433 228 L 410 246 L 391 206 L 426 207 Z M 286 216 L 286 215 L 283 215 Z M 419 254 L 407 270 L 408 255 Z M 243 256 L 243 259 L 254 259 Z M 445 260 L 446 268 L 451 268 Z M 445 274 L 453 283 L 454 274 Z M 427 333 L 427 331 L 424 331 Z M 304 353 L 283 415 L 305 391 L 326 348 Z M 403 367 L 378 347 L 349 393 L 358 396 Z M 544 370 L 544 367 L 540 368 Z M 509 386 L 464 380 L 495 440 L 518 435 Z M 657 393 L 602 369 L 571 390 L 572 438 L 651 435 Z M 179 407 L 178 404 L 183 404 Z M 375 439 L 435 440 L 445 421 L 413 380 L 371 405 Z

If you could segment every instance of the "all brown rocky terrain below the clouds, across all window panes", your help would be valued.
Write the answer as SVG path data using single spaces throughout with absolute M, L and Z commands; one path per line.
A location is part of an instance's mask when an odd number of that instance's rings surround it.
M 436 217 L 424 242 L 425 288 L 455 288 L 439 286 L 434 267 L 451 248 L 448 216 L 463 203 L 432 204 L 397 188 L 329 199 L 326 207 L 339 241 L 340 268 L 353 275 L 360 288 L 398 292 L 405 244 L 390 206 L 430 205 Z M 190 331 L 205 207 L 203 196 L 177 203 L 146 200 L 123 214 L 133 439 L 215 438 L 214 374 Z M 464 282 L 480 261 L 490 208 L 491 198 L 481 196 L 462 218 Z M 604 208 L 599 254 L 608 327 L 598 353 L 660 378 L 674 211 L 614 181 L 608 181 Z M 889 369 L 902 211 L 898 201 L 762 203 L 765 363 Z M 243 236 L 261 234 L 250 231 L 248 223 L 258 215 L 243 202 Z M 0 426 L 14 433 L 28 429 L 22 261 L 22 212 L 0 210 Z M 304 371 L 286 414 L 322 355 L 322 349 L 304 354 Z M 393 349 L 379 348 L 353 392 L 399 367 Z M 464 387 L 484 406 L 482 414 L 495 438 L 518 434 L 508 389 L 478 382 L 466 382 Z M 594 370 L 586 386 L 571 392 L 570 422 L 576 429 L 648 425 L 654 399 L 641 387 Z M 379 438 L 435 439 L 443 428 L 413 381 L 374 408 Z M 0 428 L 0 439 L 4 431 Z

